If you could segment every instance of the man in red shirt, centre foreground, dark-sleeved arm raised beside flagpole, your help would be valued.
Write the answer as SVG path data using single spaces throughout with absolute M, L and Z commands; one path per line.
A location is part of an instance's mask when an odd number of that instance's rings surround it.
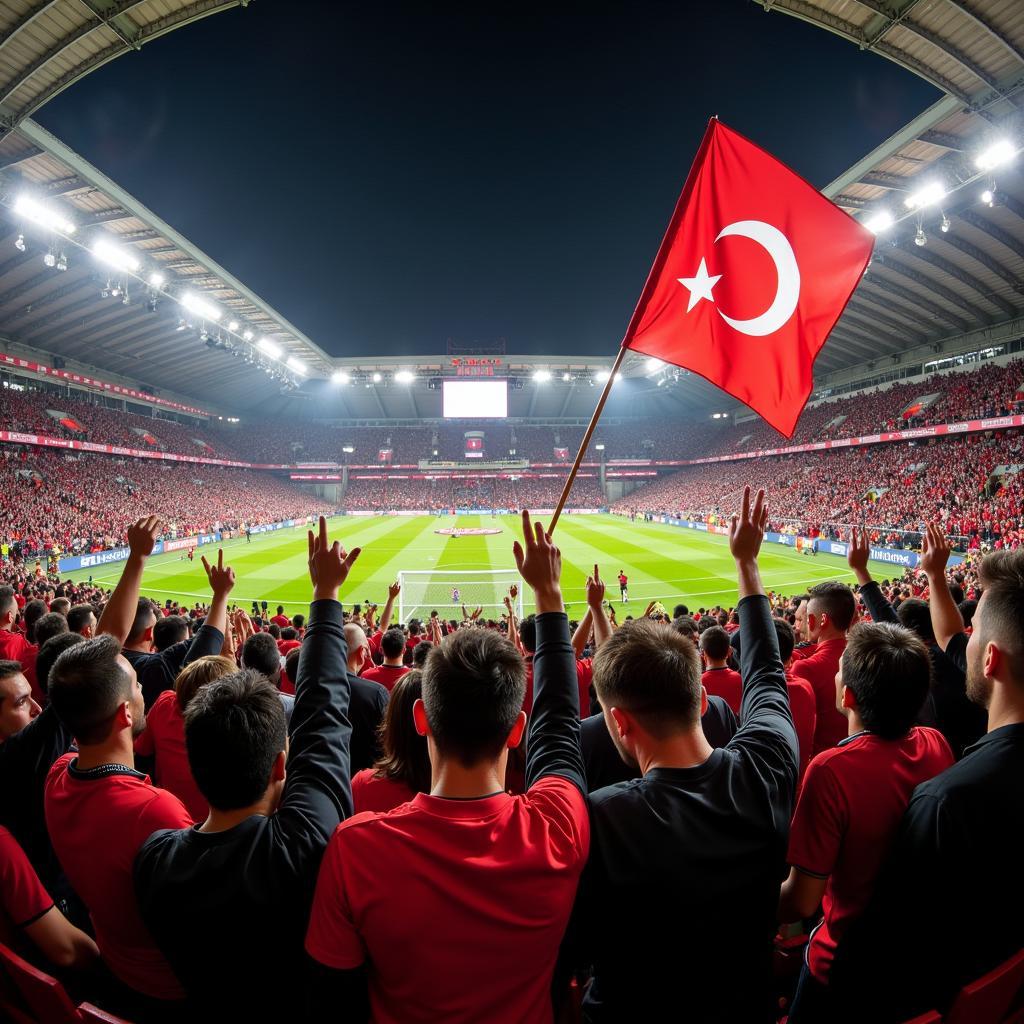
M 382 1024 L 551 1020 L 590 833 L 561 557 L 522 518 L 514 552 L 538 611 L 527 792 L 503 788 L 526 726 L 522 658 L 494 631 L 459 630 L 427 658 L 415 706 L 430 794 L 342 822 L 324 856 L 306 936 L 316 1019 L 364 1019 L 369 988 Z

